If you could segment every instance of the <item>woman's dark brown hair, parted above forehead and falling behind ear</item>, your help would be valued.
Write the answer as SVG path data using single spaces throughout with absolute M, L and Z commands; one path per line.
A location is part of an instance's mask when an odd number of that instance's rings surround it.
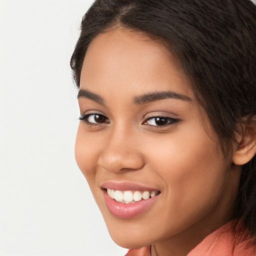
M 115 26 L 167 42 L 223 151 L 235 140 L 237 123 L 256 115 L 256 6 L 250 0 L 96 0 L 70 60 L 77 87 L 88 45 Z M 242 166 L 236 203 L 235 217 L 256 235 L 255 156 Z

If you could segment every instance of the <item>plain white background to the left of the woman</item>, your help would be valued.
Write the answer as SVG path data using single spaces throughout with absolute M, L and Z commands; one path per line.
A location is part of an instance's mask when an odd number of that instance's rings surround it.
M 0 255 L 122 256 L 74 159 L 69 59 L 92 0 L 0 0 Z

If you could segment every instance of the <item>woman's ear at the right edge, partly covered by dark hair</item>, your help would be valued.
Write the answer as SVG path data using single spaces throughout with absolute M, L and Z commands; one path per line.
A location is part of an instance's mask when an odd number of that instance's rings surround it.
M 254 119 L 254 118 L 253 118 Z M 254 121 L 242 124 L 242 129 L 237 134 L 238 146 L 233 151 L 232 161 L 234 164 L 243 165 L 250 161 L 256 153 L 256 125 Z

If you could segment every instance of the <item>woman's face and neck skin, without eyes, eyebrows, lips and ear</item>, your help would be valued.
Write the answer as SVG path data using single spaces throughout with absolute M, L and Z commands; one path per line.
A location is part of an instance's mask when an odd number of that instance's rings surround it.
M 124 28 L 99 34 L 86 52 L 80 89 L 104 103 L 78 97 L 81 115 L 91 115 L 80 121 L 75 157 L 118 245 L 151 244 L 152 256 L 182 256 L 232 218 L 240 167 L 223 156 L 177 59 L 159 41 Z M 185 98 L 134 103 L 134 97 L 159 91 Z M 93 113 L 105 116 L 103 122 L 94 123 Z M 155 125 L 157 116 L 168 123 Z M 161 193 L 145 212 L 119 218 L 105 205 L 105 181 Z

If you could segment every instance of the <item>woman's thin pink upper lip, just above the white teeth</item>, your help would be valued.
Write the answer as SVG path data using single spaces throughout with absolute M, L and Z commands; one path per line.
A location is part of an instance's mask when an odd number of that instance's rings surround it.
M 138 184 L 134 182 L 116 182 L 116 181 L 106 181 L 101 184 L 102 188 L 109 188 L 109 189 L 114 189 L 114 190 L 120 190 L 120 191 L 125 191 L 125 190 L 140 190 L 140 191 L 154 191 L 158 189 L 154 187 L 148 187 L 143 184 Z

